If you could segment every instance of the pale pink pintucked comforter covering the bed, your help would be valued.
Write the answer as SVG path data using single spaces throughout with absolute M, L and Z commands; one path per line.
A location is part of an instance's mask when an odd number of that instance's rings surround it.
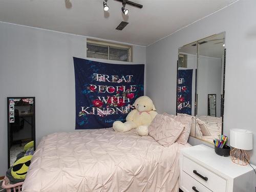
M 179 150 L 152 137 L 112 128 L 54 133 L 42 138 L 24 192 L 178 191 Z

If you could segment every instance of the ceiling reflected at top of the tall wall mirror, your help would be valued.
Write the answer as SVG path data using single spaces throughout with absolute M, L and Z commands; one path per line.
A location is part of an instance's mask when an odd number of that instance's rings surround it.
M 200 43 L 204 42 L 200 45 Z M 197 46 L 195 45 L 197 42 L 192 42 L 189 45 L 185 45 L 179 48 L 180 53 L 188 53 L 192 55 L 197 54 Z M 225 45 L 225 33 L 220 33 L 216 35 L 212 35 L 210 37 L 206 37 L 198 41 L 198 54 L 206 57 L 215 57 L 222 58 L 224 54 L 223 44 Z

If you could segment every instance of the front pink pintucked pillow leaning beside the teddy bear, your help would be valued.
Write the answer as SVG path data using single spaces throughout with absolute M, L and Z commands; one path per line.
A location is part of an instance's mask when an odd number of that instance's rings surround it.
M 184 129 L 184 124 L 166 115 L 158 114 L 148 126 L 148 132 L 160 145 L 172 145 Z

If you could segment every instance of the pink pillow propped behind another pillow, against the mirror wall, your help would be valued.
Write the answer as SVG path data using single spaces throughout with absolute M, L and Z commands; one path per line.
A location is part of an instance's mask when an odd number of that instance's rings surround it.
M 167 115 L 168 117 L 173 118 L 176 121 L 179 121 L 182 124 L 184 124 L 185 127 L 181 132 L 180 136 L 178 137 L 178 139 L 176 140 L 176 142 L 180 144 L 186 144 L 189 137 L 190 130 L 191 130 L 191 117 L 187 117 L 187 116 L 181 117 L 176 115 L 170 115 L 167 113 L 163 113 L 163 115 Z

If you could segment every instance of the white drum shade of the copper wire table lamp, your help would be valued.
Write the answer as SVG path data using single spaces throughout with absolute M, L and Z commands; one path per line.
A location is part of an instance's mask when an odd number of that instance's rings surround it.
M 240 150 L 252 150 L 252 132 L 243 129 L 231 129 L 229 133 L 229 144 Z

